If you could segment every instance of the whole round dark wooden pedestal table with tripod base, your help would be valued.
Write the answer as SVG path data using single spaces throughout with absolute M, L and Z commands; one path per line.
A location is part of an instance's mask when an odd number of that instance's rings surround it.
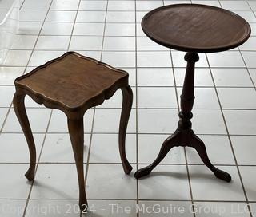
M 162 144 L 154 162 L 139 169 L 138 179 L 150 172 L 175 146 L 195 148 L 202 161 L 214 175 L 226 182 L 231 176 L 211 164 L 206 146 L 194 134 L 191 118 L 194 105 L 194 67 L 198 53 L 220 52 L 242 45 L 250 37 L 250 25 L 245 19 L 228 10 L 198 4 L 177 4 L 151 10 L 142 19 L 142 30 L 153 41 L 170 49 L 185 51 L 186 75 L 184 79 L 178 129 Z M 207 124 L 207 123 L 206 123 Z

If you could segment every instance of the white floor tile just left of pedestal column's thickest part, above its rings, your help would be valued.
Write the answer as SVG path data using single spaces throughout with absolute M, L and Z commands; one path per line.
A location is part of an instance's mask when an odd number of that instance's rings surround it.
M 138 108 L 178 108 L 174 88 L 138 88 Z

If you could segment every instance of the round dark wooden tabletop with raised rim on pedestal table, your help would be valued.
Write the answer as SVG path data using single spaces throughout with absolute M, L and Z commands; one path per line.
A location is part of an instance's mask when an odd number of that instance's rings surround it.
M 198 4 L 151 10 L 142 19 L 142 30 L 160 45 L 197 53 L 234 49 L 250 37 L 250 25 L 238 14 Z

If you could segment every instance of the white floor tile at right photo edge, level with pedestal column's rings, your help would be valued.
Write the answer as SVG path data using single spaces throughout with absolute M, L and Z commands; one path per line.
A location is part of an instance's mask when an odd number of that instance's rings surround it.
M 250 110 L 225 110 L 227 128 L 230 134 L 254 135 L 255 124 L 251 122 L 255 118 L 255 112 Z

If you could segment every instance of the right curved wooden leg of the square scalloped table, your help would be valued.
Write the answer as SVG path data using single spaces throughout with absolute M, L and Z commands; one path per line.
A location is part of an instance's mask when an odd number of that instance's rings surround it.
M 122 160 L 122 168 L 126 174 L 133 169 L 126 157 L 126 129 L 133 104 L 133 92 L 130 86 L 122 88 L 122 113 L 119 126 L 119 152 Z

